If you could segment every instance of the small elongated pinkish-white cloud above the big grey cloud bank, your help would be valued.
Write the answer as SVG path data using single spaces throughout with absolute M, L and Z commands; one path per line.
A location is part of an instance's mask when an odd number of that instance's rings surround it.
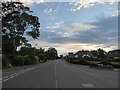
M 61 29 L 60 32 L 63 34 L 67 34 L 67 32 L 87 31 L 93 27 L 96 26 L 90 24 L 81 24 L 79 22 L 57 22 L 52 26 L 46 26 L 47 29 Z

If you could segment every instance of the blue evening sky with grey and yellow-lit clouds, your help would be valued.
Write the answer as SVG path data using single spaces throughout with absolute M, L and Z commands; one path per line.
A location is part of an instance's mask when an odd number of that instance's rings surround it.
M 39 40 L 27 37 L 33 46 L 54 47 L 59 55 L 79 50 L 102 48 L 110 51 L 118 48 L 119 10 L 116 0 L 27 1 L 22 0 L 33 15 L 39 17 L 41 24 Z

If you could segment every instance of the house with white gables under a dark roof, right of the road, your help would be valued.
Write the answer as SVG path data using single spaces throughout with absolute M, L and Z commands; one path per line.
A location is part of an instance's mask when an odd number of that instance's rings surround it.
M 90 51 L 85 51 L 85 50 L 82 50 L 82 51 L 78 51 L 75 55 L 75 58 L 78 58 L 78 57 L 94 57 L 93 53 L 90 52 Z

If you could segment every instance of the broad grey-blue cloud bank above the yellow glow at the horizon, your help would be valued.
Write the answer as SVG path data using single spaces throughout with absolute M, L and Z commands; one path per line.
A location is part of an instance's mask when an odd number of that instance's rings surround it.
M 93 43 L 93 44 L 105 44 L 108 47 L 117 46 L 118 42 L 117 16 L 100 17 L 97 18 L 97 20 L 94 22 L 90 22 L 88 24 L 83 25 L 74 24 L 73 23 L 69 23 L 69 25 L 66 24 L 67 28 L 69 28 L 67 30 L 58 29 L 54 32 L 47 31 L 45 32 L 45 35 L 44 34 L 42 35 L 42 38 L 44 39 L 44 41 L 58 44 Z M 86 30 L 81 29 L 81 27 L 86 28 Z

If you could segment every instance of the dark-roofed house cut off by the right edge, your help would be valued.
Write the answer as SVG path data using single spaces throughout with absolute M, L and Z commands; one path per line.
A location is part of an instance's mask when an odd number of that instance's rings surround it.
M 109 59 L 120 59 L 120 49 L 109 51 L 107 53 L 107 58 L 109 58 Z

